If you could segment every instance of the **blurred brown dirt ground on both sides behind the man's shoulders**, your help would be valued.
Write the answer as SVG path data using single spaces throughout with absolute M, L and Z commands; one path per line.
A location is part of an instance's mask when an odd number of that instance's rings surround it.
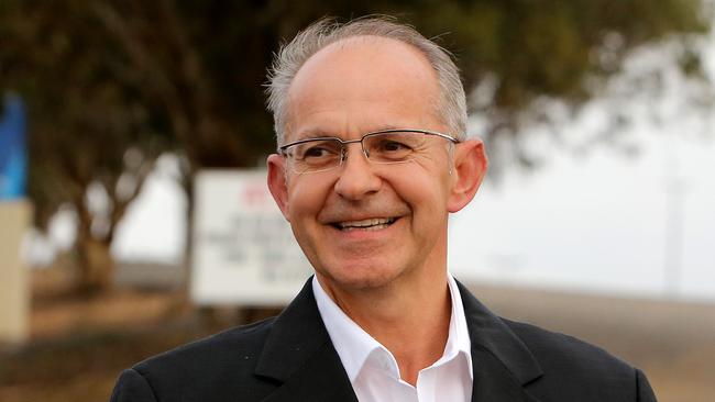
M 0 401 L 107 401 L 132 364 L 275 311 L 191 308 L 182 291 L 68 292 L 63 272 L 33 278 L 32 338 L 0 349 Z M 715 394 L 715 304 L 471 286 L 495 312 L 604 347 L 648 375 L 659 401 Z

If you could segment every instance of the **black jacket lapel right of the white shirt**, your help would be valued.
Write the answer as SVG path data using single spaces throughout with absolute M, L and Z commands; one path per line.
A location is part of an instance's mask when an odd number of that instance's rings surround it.
M 542 376 L 526 345 L 458 282 L 472 343 L 472 401 L 537 401 L 524 386 Z

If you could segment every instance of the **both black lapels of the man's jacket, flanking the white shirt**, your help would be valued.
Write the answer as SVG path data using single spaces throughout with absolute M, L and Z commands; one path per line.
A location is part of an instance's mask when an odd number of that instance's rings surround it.
M 536 402 L 522 387 L 542 372 L 527 346 L 458 286 L 472 343 L 472 401 Z M 310 279 L 274 322 L 255 375 L 278 386 L 266 402 L 358 401 L 318 312 Z

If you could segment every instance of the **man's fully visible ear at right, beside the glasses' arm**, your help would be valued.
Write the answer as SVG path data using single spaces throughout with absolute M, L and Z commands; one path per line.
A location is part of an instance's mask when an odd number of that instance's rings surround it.
M 458 212 L 472 201 L 487 166 L 484 144 L 480 139 L 468 139 L 454 146 L 452 188 L 447 204 L 449 212 Z

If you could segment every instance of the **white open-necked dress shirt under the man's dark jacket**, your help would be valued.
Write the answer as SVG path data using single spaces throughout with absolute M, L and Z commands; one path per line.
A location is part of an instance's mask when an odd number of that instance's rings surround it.
M 472 355 L 462 298 L 448 275 L 452 315 L 444 351 L 421 369 L 416 387 L 402 380 L 393 354 L 361 328 L 312 278 L 312 291 L 330 339 L 360 402 L 469 402 L 472 398 Z

